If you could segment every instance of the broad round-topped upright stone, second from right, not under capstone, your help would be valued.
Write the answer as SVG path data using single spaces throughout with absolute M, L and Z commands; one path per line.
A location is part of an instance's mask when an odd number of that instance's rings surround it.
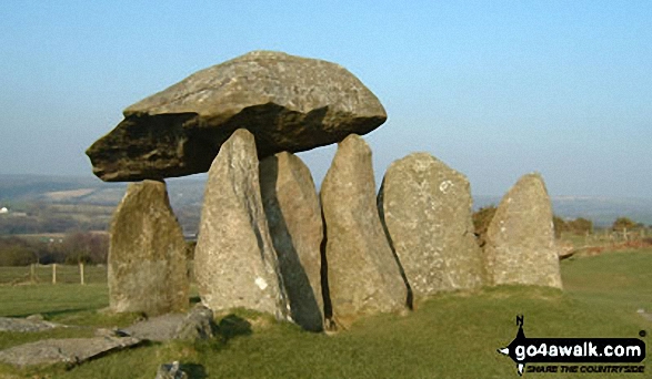
M 467 177 L 428 153 L 388 168 L 378 207 L 414 298 L 482 285 L 471 205 Z

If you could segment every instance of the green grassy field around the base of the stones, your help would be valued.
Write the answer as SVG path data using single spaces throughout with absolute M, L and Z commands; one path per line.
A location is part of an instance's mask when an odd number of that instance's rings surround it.
M 495 351 L 514 338 L 516 315 L 525 316 L 529 337 L 639 337 L 640 330 L 652 331 L 652 322 L 636 314 L 652 310 L 650 273 L 652 249 L 580 256 L 562 262 L 563 293 L 506 286 L 445 294 L 408 315 L 368 318 L 333 336 L 238 313 L 241 321 L 222 320 L 221 338 L 211 342 L 150 344 L 69 371 L 0 367 L 0 378 L 2 372 L 16 378 L 153 378 L 159 365 L 173 360 L 192 378 L 516 378 L 511 359 Z M 2 316 L 41 313 L 56 321 L 104 327 L 133 320 L 132 315 L 96 311 L 107 305 L 106 285 L 0 286 Z M 28 336 L 0 332 L 0 348 L 89 334 L 88 328 Z M 651 339 L 644 340 L 649 362 Z M 620 377 L 652 377 L 652 366 L 643 375 Z

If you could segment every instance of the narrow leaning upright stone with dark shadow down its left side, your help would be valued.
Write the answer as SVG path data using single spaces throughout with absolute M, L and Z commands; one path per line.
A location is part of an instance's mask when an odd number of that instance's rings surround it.
M 320 331 L 323 227 L 312 175 L 298 156 L 279 153 L 260 163 L 260 188 L 292 319 Z

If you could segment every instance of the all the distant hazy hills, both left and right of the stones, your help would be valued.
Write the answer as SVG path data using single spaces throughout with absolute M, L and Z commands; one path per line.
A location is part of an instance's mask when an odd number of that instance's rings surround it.
M 167 182 L 170 203 L 184 232 L 197 233 L 205 175 Z M 0 234 L 20 227 L 34 233 L 71 228 L 107 229 L 126 187 L 126 183 L 104 183 L 90 175 L 0 175 L 0 208 L 8 207 L 13 215 L 28 217 L 8 219 L 8 215 L 0 215 Z M 500 199 L 500 196 L 475 196 L 474 208 L 496 205 Z M 552 205 L 554 213 L 561 217 L 584 217 L 596 226 L 609 226 L 621 216 L 652 224 L 652 198 L 559 196 L 552 198 Z

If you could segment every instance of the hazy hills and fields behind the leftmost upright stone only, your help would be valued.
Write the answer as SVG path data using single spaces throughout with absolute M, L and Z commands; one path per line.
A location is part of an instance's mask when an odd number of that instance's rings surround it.
M 197 233 L 204 180 L 169 180 L 170 203 L 183 231 Z M 0 235 L 106 231 L 127 183 L 93 176 L 0 175 Z

